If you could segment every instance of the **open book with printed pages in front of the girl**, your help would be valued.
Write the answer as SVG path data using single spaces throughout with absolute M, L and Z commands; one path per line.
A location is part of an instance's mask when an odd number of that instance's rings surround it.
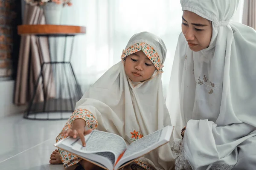
M 68 137 L 54 146 L 73 153 L 106 170 L 119 170 L 141 156 L 170 141 L 173 126 L 166 126 L 127 146 L 124 139 L 113 133 L 93 130 L 84 136 L 86 147 L 79 138 Z

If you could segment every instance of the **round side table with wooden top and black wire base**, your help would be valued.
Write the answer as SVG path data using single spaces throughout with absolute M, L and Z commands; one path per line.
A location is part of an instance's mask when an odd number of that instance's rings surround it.
M 74 39 L 85 34 L 85 27 L 64 25 L 20 25 L 18 34 L 21 36 L 35 35 L 38 52 L 41 58 L 41 71 L 35 84 L 26 119 L 58 120 L 68 119 L 75 109 L 76 102 L 82 92 L 70 62 Z M 53 61 L 49 49 L 49 61 L 44 60 L 41 37 L 65 37 L 64 56 L 61 61 Z M 72 39 L 70 57 L 66 59 L 67 38 Z M 43 96 L 43 98 L 42 98 Z

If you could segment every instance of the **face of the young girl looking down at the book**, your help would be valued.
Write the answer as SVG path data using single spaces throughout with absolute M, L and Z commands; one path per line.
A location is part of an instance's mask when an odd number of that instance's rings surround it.
M 128 55 L 125 59 L 125 74 L 133 82 L 143 82 L 150 79 L 155 70 L 154 64 L 143 51 Z

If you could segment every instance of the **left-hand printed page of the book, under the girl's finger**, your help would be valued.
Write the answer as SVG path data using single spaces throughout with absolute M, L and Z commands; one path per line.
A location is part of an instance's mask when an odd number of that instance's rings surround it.
M 72 149 L 81 153 L 95 153 L 107 157 L 113 164 L 118 156 L 127 148 L 125 140 L 113 133 L 93 130 L 89 135 L 85 136 L 85 139 L 86 147 L 82 146 L 79 139 L 73 143 Z

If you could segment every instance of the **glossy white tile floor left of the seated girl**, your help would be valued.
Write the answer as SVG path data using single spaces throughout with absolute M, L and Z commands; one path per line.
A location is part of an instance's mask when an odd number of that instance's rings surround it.
M 67 120 L 38 121 L 14 115 L 0 119 L 0 170 L 64 170 L 49 164 L 55 137 Z

